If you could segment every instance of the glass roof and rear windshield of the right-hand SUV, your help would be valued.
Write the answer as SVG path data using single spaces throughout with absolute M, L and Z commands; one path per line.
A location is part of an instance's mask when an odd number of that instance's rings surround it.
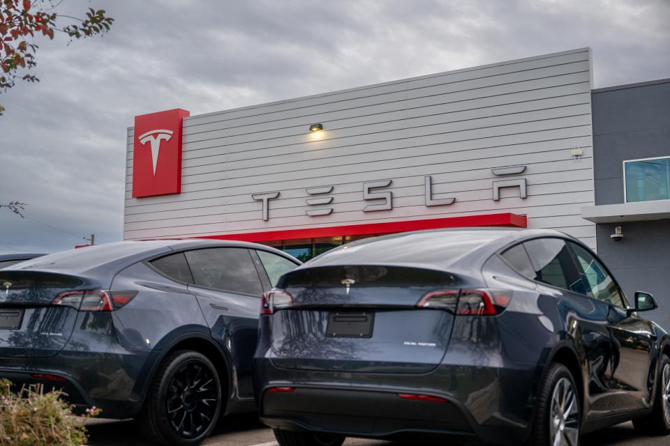
M 435 270 L 481 266 L 499 249 L 536 237 L 571 238 L 551 229 L 431 229 L 366 238 L 331 249 L 299 267 L 379 265 Z

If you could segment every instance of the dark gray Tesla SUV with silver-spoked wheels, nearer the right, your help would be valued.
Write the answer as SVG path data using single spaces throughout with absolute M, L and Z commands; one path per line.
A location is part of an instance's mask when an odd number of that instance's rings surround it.
M 458 434 L 578 445 L 670 428 L 670 338 L 557 231 L 404 233 L 343 245 L 263 298 L 260 417 L 281 446 Z

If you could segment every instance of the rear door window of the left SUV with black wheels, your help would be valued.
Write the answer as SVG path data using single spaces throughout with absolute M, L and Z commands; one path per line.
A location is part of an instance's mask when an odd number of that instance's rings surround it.
M 233 293 L 262 294 L 251 253 L 246 248 L 207 248 L 186 252 L 195 285 Z

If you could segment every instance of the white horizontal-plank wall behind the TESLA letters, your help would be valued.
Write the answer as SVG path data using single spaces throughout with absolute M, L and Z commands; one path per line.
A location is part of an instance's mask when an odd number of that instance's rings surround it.
M 184 120 L 182 193 L 133 199 L 128 130 L 124 238 L 206 236 L 419 220 L 527 214 L 595 247 L 589 49 L 547 54 Z M 311 134 L 310 123 L 324 132 Z M 571 149 L 583 148 L 579 160 Z M 522 164 L 528 197 L 501 190 L 495 167 Z M 433 198 L 426 206 L 424 176 Z M 363 212 L 363 184 L 392 180 L 393 208 Z M 334 186 L 307 206 L 306 188 Z M 383 190 L 383 189 L 382 189 Z M 252 194 L 280 192 L 269 220 Z M 306 210 L 333 208 L 311 217 Z

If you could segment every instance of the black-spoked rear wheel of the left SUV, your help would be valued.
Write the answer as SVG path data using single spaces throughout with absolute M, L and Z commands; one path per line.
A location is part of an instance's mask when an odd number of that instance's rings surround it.
M 161 362 L 142 412 L 140 430 L 158 445 L 198 445 L 221 413 L 221 380 L 206 356 L 175 351 Z

